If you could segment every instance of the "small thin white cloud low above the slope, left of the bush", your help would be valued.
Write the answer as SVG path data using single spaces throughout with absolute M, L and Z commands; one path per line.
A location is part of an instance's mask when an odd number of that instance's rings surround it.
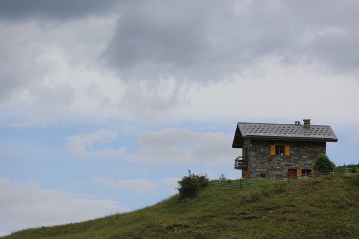
M 103 178 L 93 178 L 92 180 L 95 183 L 100 183 L 119 190 L 133 191 L 135 193 L 155 192 L 157 187 L 157 183 L 149 182 L 143 178 L 120 181 L 115 181 L 113 179 L 105 180 Z

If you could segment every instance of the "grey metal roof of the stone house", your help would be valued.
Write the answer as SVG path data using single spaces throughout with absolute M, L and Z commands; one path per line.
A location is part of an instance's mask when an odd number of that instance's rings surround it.
M 233 148 L 242 148 L 244 138 L 337 142 L 328 125 L 238 123 Z

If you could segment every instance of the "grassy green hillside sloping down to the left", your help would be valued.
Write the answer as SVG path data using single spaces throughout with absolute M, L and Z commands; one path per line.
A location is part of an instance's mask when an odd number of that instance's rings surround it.
M 125 214 L 18 231 L 18 238 L 359 238 L 359 176 L 248 190 L 208 187 Z

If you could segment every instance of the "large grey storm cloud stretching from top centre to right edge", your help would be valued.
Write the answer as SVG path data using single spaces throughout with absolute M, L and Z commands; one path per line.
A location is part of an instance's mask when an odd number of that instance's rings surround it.
M 353 1 L 144 1 L 118 19 L 101 59 L 125 80 L 196 81 L 241 73 L 264 57 L 358 67 Z

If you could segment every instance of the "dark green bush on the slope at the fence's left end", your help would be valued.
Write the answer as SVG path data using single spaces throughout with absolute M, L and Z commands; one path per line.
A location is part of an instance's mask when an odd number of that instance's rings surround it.
M 191 174 L 191 171 L 188 170 L 188 176 L 182 178 L 181 181 L 178 181 L 178 192 L 180 192 L 180 197 L 194 197 L 199 192 L 200 188 L 207 187 L 209 181 L 205 176 L 199 176 Z

